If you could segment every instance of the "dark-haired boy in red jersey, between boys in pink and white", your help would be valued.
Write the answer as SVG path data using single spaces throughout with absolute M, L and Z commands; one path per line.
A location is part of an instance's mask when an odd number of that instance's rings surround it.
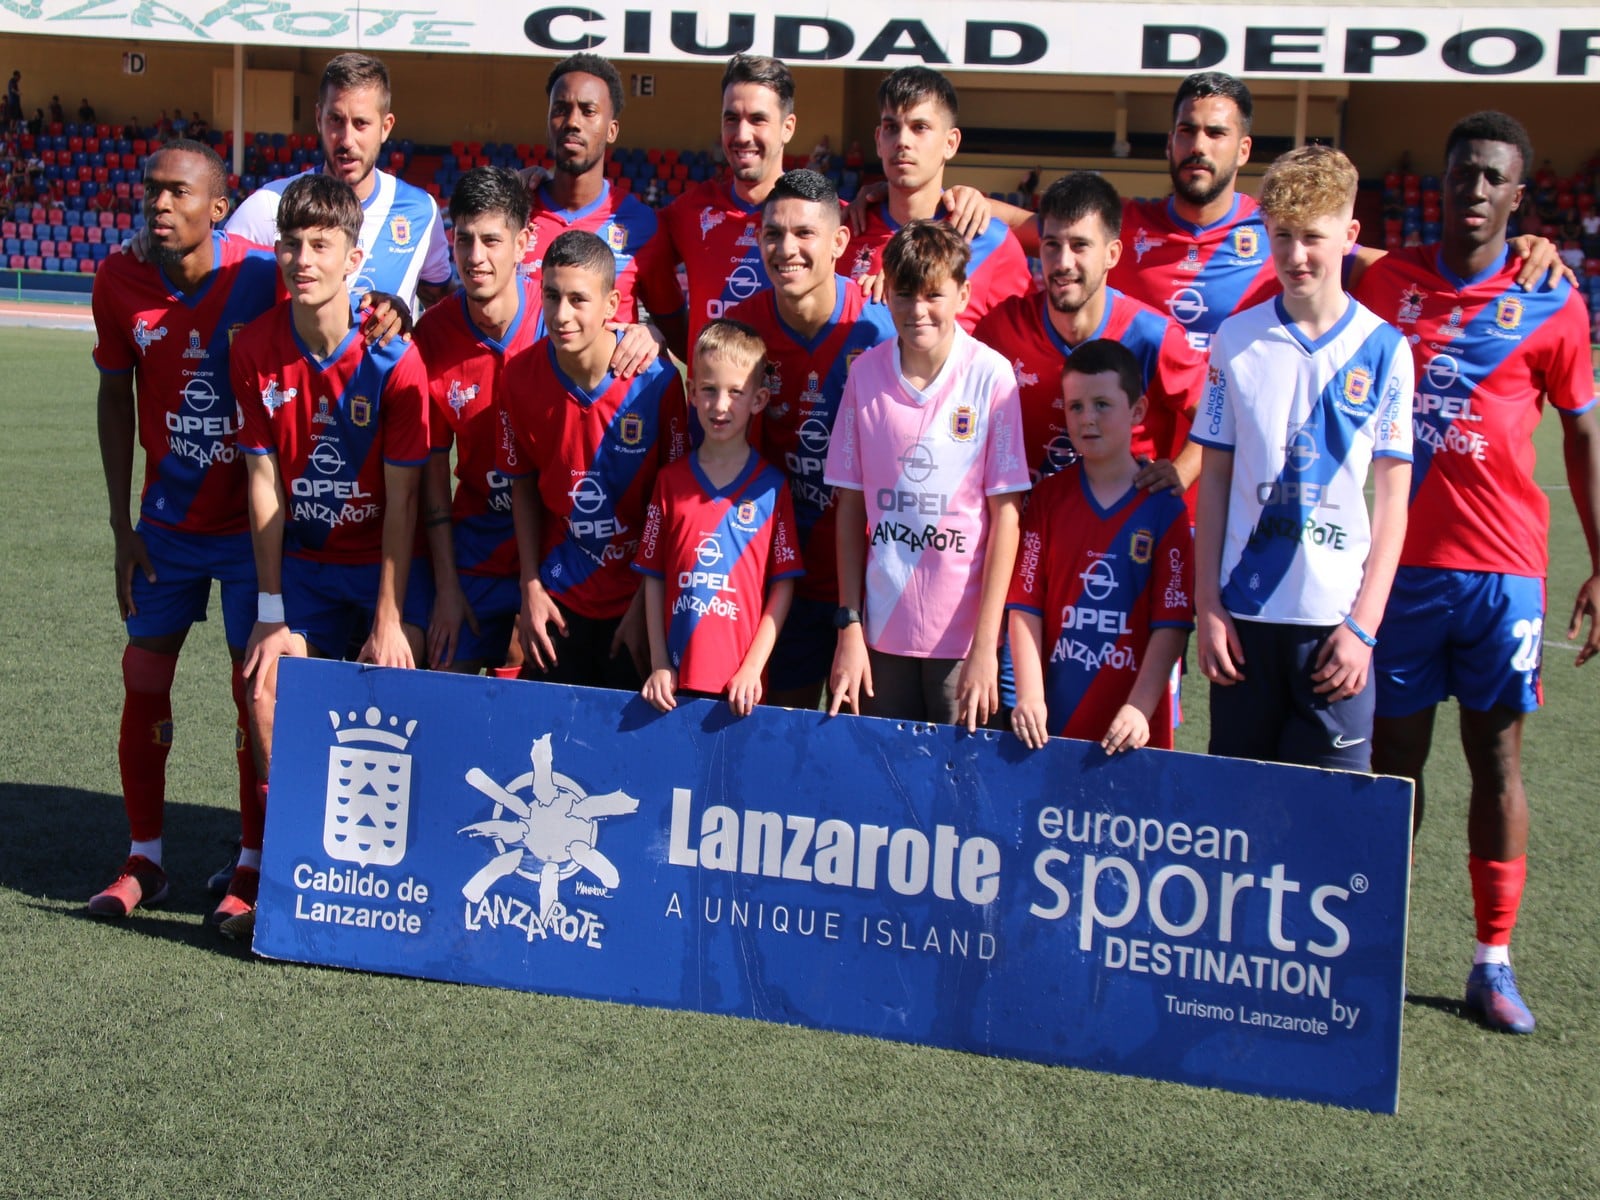
M 1189 512 L 1139 488 L 1133 430 L 1142 373 L 1109 339 L 1066 360 L 1061 389 L 1078 461 L 1034 488 L 1011 576 L 1011 728 L 1098 741 L 1107 754 L 1173 747 L 1166 680 L 1194 629 Z

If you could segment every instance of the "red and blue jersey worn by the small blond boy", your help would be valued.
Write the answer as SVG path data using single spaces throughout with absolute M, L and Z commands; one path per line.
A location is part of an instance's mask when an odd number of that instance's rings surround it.
M 726 691 L 755 643 L 766 589 L 803 571 L 784 474 L 754 450 L 726 488 L 694 458 L 662 467 L 634 570 L 666 584 L 678 686 Z

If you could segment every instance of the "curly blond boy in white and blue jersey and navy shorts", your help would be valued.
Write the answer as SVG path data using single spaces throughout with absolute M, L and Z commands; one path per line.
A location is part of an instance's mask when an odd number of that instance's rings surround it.
M 1211 754 L 1365 771 L 1371 658 L 1405 541 L 1411 347 L 1341 264 L 1357 174 L 1326 146 L 1261 181 L 1283 294 L 1230 317 L 1190 437 L 1200 672 Z M 1373 518 L 1363 486 L 1373 472 Z

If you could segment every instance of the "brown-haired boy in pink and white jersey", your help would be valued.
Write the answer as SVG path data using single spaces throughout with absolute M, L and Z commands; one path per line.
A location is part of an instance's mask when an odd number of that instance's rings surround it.
M 824 474 L 838 506 L 830 715 L 848 704 L 976 730 L 1000 710 L 1029 477 L 1011 365 L 957 323 L 968 258 L 934 221 L 883 251 L 898 336 L 851 368 Z

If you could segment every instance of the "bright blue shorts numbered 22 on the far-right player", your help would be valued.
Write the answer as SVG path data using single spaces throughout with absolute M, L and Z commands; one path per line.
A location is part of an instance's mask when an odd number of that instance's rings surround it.
M 1378 715 L 1410 717 L 1446 696 L 1472 712 L 1544 702 L 1544 581 L 1402 566 L 1378 630 Z

